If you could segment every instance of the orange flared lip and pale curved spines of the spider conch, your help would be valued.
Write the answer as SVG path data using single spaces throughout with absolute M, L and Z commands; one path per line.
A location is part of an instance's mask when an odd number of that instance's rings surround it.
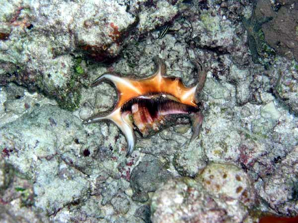
M 106 116 L 95 116 L 88 120 L 87 123 L 94 123 L 103 119 L 112 120 L 124 133 L 127 139 L 128 152 L 129 155 L 135 146 L 135 135 L 133 133 L 133 123 L 127 112 L 121 112 L 122 106 L 129 102 L 133 98 L 140 96 L 146 96 L 149 94 L 165 94 L 170 95 L 175 98 L 175 100 L 180 103 L 196 107 L 196 93 L 201 90 L 205 80 L 206 72 L 200 75 L 198 84 L 194 87 L 185 87 L 180 78 L 167 77 L 166 68 L 164 63 L 160 58 L 156 58 L 155 62 L 157 64 L 156 72 L 149 78 L 135 80 L 126 77 L 119 77 L 113 73 L 105 73 L 98 77 L 92 84 L 95 86 L 102 80 L 109 80 L 113 82 L 118 90 L 119 99 L 114 110 Z M 196 65 L 198 65 L 196 63 Z M 202 68 L 202 71 L 205 71 Z M 200 121 L 198 123 L 202 124 L 203 116 L 199 115 Z

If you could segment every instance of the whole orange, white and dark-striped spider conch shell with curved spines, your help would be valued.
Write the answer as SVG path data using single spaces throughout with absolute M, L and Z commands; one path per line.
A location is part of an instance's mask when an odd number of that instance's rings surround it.
M 103 80 L 113 82 L 118 91 L 118 101 L 113 111 L 107 115 L 95 115 L 86 123 L 104 119 L 113 121 L 123 132 L 127 140 L 126 155 L 129 156 L 135 147 L 134 125 L 148 136 L 150 132 L 160 130 L 166 125 L 170 115 L 188 114 L 192 122 L 191 141 L 200 134 L 203 115 L 198 107 L 198 93 L 204 87 L 206 71 L 202 64 L 193 61 L 198 69 L 198 83 L 186 87 L 180 78 L 166 76 L 166 67 L 162 59 L 156 57 L 156 72 L 145 79 L 120 77 L 117 73 L 104 73 L 92 86 Z

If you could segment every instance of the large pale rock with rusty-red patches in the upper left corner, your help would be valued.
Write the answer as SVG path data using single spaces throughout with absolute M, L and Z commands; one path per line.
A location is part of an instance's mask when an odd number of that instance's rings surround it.
M 0 83 L 16 81 L 79 104 L 86 70 L 74 51 L 98 60 L 117 56 L 135 17 L 116 1 L 3 1 L 0 9 Z M 4 7 L 5 5 L 5 7 Z

